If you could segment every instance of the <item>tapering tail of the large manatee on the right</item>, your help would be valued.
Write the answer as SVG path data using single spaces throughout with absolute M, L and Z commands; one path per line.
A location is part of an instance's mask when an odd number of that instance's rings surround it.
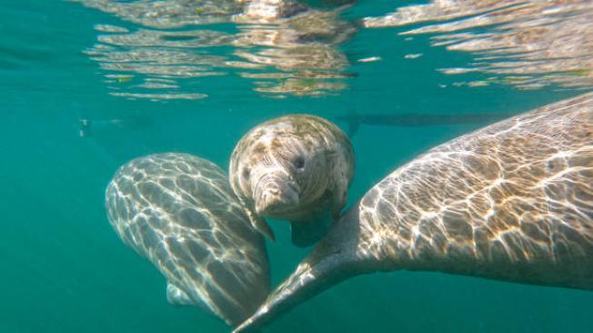
M 354 211 L 354 212 L 353 212 Z M 256 312 L 233 333 L 253 332 L 337 283 L 370 271 L 357 259 L 358 209 L 337 221 L 290 277 L 268 296 Z M 356 220 L 353 218 L 356 217 Z

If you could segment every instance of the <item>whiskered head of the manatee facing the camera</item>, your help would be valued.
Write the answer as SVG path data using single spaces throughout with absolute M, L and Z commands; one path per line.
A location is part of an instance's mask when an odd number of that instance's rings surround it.
M 327 135 L 314 116 L 283 116 L 237 144 L 230 174 L 238 197 L 260 217 L 306 219 L 331 186 Z

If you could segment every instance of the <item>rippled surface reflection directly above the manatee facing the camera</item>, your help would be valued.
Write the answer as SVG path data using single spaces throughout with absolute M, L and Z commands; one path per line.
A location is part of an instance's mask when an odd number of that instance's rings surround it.
M 276 17 L 278 14 L 268 10 L 266 1 L 262 3 L 267 8 L 235 1 L 76 1 L 140 25 L 136 29 L 95 25 L 100 35 L 85 54 L 98 62 L 103 71 L 166 77 L 176 83 L 135 86 L 158 93 L 116 96 L 186 98 L 196 94 L 179 94 L 181 81 L 229 74 L 253 79 L 254 91 L 278 97 L 321 96 L 346 87 L 344 82 L 334 82 L 348 77 L 344 74 L 347 58 L 337 45 L 356 29 L 339 17 L 340 9 L 305 10 L 304 5 L 296 2 L 269 1 L 272 8 L 281 9 L 279 14 L 291 14 Z M 227 29 L 230 24 L 234 31 L 176 30 L 213 24 L 227 24 L 216 25 L 218 29 Z M 123 86 L 126 83 L 113 82 L 117 88 L 127 88 Z

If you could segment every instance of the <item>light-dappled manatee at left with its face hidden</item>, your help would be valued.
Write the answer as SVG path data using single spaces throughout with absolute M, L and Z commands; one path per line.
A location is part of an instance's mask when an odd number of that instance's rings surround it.
M 137 158 L 107 187 L 106 210 L 117 235 L 165 276 L 171 304 L 234 326 L 266 298 L 264 239 L 215 164 L 186 154 Z

